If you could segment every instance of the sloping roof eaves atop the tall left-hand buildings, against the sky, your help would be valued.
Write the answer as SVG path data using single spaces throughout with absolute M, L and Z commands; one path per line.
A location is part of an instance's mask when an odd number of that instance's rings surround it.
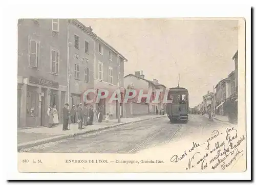
M 122 57 L 122 59 L 124 60 L 124 62 L 127 61 L 127 59 L 120 54 L 116 49 L 114 49 L 109 43 L 105 42 L 102 38 L 100 38 L 97 34 L 95 34 L 92 29 L 90 27 L 86 27 L 82 24 L 82 22 L 80 22 L 77 19 L 72 19 L 72 21 L 78 25 L 78 27 L 82 28 L 84 31 L 86 31 L 89 35 L 93 36 L 95 39 L 99 40 L 100 42 L 102 42 L 104 45 L 106 45 L 106 47 L 108 47 L 109 49 L 111 49 L 114 53 L 116 53 L 118 56 Z

